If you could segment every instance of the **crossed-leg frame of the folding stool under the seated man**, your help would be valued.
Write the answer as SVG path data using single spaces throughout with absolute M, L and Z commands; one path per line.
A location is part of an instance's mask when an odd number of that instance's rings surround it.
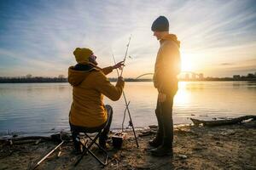
M 106 166 L 108 164 L 108 152 L 106 150 L 104 150 L 102 148 L 102 146 L 100 146 L 99 144 L 96 143 L 96 140 L 100 137 L 102 131 L 104 128 L 102 128 L 102 130 L 100 130 L 99 132 L 96 132 L 96 136 L 94 138 L 90 137 L 90 135 L 88 135 L 88 133 L 86 132 L 81 132 L 84 133 L 85 136 L 88 138 L 88 140 L 85 142 L 85 144 L 83 142 L 81 142 L 81 139 L 79 138 L 79 136 L 76 138 L 76 140 L 83 145 L 83 152 L 82 155 L 79 157 L 79 160 L 75 163 L 74 166 L 77 166 L 79 164 L 79 162 L 83 159 L 84 155 L 87 155 L 88 153 L 93 156 L 94 158 L 96 158 L 97 161 L 99 161 L 102 166 Z M 88 144 L 89 143 L 89 144 Z M 104 154 L 104 160 L 100 160 L 91 150 L 91 146 L 93 144 L 96 144 L 96 146 L 102 151 L 102 154 Z

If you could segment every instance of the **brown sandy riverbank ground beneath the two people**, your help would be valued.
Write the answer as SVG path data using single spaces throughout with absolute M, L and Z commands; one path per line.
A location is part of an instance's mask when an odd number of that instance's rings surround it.
M 114 150 L 111 143 L 108 151 L 113 159 L 105 169 L 256 169 L 256 121 L 219 127 L 178 127 L 174 133 L 174 157 L 150 155 L 150 134 L 138 138 L 137 148 L 132 133 L 122 149 Z M 137 134 L 142 131 L 137 131 Z M 36 141 L 36 140 L 35 140 Z M 0 147 L 0 169 L 26 169 L 52 150 L 57 142 L 41 140 L 29 144 L 6 144 Z M 78 167 L 79 158 L 72 153 L 72 143 L 67 141 L 59 150 L 48 157 L 37 169 L 101 169 L 92 156 L 84 156 Z

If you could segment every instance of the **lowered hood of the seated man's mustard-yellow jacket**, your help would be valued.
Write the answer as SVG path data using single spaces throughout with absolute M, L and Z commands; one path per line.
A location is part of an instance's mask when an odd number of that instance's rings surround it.
M 83 82 L 86 77 L 90 75 L 91 71 L 98 71 L 98 68 L 94 67 L 93 65 L 75 65 L 70 66 L 68 68 L 68 77 L 67 81 L 72 86 L 79 86 L 81 82 Z

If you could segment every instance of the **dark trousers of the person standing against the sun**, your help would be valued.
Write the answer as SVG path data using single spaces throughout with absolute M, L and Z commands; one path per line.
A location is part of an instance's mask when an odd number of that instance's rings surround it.
M 162 145 L 172 147 L 173 142 L 173 120 L 172 120 L 172 105 L 175 94 L 167 95 L 166 101 L 159 102 L 157 105 L 155 115 L 158 122 L 158 132 L 156 139 L 162 141 Z

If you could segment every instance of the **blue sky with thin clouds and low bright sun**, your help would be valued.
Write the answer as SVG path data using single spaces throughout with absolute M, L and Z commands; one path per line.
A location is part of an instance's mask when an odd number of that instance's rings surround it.
M 160 44 L 151 25 L 160 15 L 181 41 L 183 71 L 256 71 L 255 0 L 0 0 L 0 77 L 67 76 L 77 47 L 92 49 L 99 66 L 113 65 L 112 54 L 124 59 L 130 36 L 124 77 L 152 73 Z

